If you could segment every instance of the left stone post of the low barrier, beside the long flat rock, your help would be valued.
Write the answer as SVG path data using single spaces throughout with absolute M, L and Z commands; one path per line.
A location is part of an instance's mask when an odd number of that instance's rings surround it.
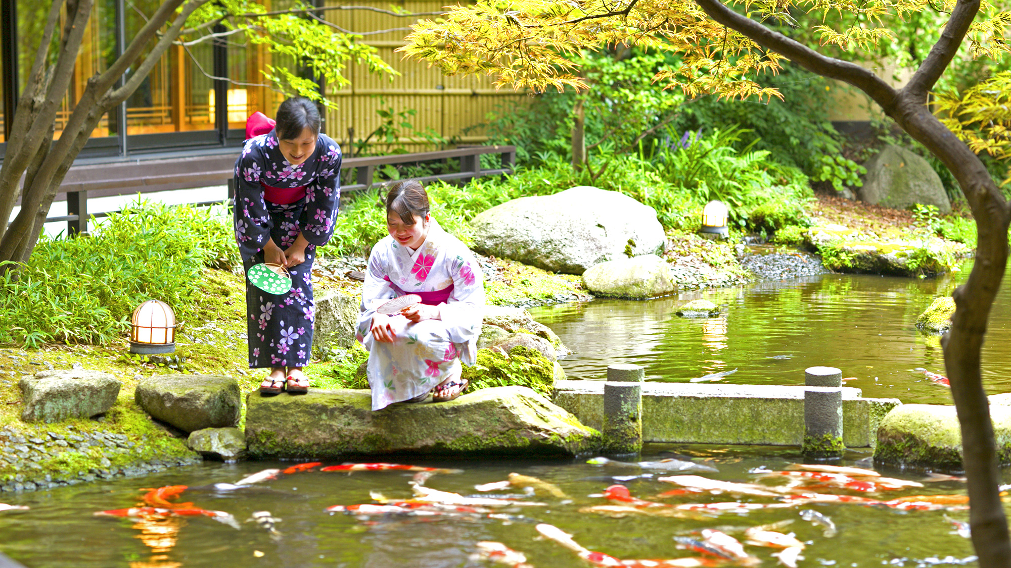
M 642 450 L 642 384 L 640 365 L 608 367 L 604 383 L 604 424 L 602 434 L 612 455 L 638 454 Z

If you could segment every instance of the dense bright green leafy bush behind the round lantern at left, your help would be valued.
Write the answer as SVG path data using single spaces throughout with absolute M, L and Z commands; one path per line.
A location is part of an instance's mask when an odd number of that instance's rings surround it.
M 92 235 L 42 238 L 0 280 L 0 343 L 101 344 L 122 337 L 133 308 L 159 299 L 193 317 L 201 270 L 237 264 L 231 223 L 206 208 L 137 201 Z

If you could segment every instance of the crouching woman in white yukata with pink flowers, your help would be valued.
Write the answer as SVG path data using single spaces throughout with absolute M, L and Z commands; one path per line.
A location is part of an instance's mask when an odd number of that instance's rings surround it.
M 474 255 L 429 214 L 422 184 L 397 182 L 386 196 L 389 235 L 372 248 L 365 273 L 358 341 L 369 351 L 372 409 L 394 402 L 452 400 L 467 388 L 461 362 L 473 365 L 484 309 Z M 421 303 L 384 315 L 376 308 L 418 294 Z

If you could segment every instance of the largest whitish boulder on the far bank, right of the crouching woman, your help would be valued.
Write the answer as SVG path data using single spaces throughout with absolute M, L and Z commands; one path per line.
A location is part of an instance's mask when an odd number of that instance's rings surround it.
M 476 250 L 569 274 L 625 256 L 658 254 L 664 244 L 656 210 L 588 186 L 514 199 L 481 212 L 471 224 Z

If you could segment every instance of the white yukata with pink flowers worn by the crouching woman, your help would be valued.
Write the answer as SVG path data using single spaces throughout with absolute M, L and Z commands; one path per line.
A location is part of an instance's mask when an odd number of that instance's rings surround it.
M 396 340 L 372 338 L 372 316 L 383 302 L 404 294 L 437 292 L 453 287 L 438 304 L 441 319 L 412 323 L 390 316 Z M 411 251 L 386 235 L 369 255 L 356 337 L 369 351 L 368 379 L 372 409 L 425 394 L 457 376 L 460 363 L 473 365 L 484 312 L 484 281 L 474 255 L 435 219 L 425 243 Z

